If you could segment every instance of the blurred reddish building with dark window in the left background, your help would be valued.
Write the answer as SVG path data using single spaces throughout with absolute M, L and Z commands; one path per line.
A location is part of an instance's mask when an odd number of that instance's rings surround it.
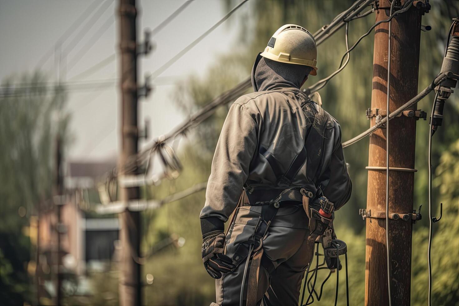
M 101 263 L 111 261 L 114 256 L 118 218 L 91 213 L 90 203 L 101 202 L 97 182 L 115 166 L 115 160 L 66 164 L 65 204 L 61 208 L 65 233 L 61 236 L 61 254 L 68 272 L 84 275 L 88 267 L 100 268 Z M 38 220 L 39 264 L 51 266 L 57 251 L 56 207 L 51 203 L 44 205 Z

